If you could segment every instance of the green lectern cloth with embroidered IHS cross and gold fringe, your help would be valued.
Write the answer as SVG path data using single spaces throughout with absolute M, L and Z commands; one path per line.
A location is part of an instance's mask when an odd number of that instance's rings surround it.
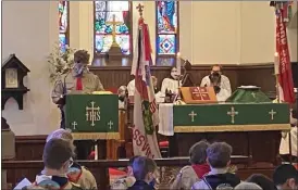
M 116 94 L 69 94 L 66 128 L 74 139 L 119 139 Z

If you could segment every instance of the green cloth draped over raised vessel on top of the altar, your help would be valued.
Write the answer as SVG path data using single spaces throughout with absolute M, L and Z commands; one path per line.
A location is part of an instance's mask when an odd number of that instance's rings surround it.
M 233 103 L 264 103 L 272 102 L 270 98 L 261 91 L 260 87 L 238 87 L 236 91 L 226 100 Z

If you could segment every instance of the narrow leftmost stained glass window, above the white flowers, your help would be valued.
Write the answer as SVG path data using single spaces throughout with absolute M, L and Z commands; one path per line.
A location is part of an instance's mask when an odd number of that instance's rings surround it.
M 70 45 L 69 39 L 69 4 L 70 1 L 59 1 L 59 47 L 62 52 L 65 51 L 65 46 Z

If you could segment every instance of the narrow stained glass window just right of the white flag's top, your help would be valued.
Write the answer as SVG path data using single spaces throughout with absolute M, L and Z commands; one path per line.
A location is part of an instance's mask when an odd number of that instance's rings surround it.
M 178 51 L 178 1 L 157 1 L 157 54 Z

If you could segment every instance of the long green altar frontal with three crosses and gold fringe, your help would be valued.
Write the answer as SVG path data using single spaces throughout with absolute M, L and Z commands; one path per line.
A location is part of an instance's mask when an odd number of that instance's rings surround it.
M 287 103 L 187 104 L 173 107 L 174 132 L 289 130 Z

